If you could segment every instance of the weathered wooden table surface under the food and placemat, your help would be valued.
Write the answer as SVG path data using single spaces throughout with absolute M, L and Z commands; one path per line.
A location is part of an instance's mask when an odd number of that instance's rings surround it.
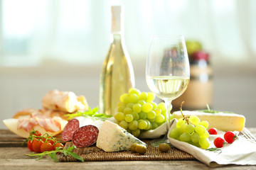
M 252 135 L 256 136 L 256 128 L 248 128 Z M 0 130 L 0 141 L 6 138 L 7 130 Z M 10 135 L 15 137 L 15 135 Z M 9 136 L 9 137 L 10 137 Z M 17 137 L 18 138 L 18 137 Z M 19 141 L 18 139 L 17 141 Z M 16 141 L 16 142 L 17 142 Z M 206 164 L 198 161 L 126 161 L 126 162 L 53 162 L 50 157 L 45 157 L 36 161 L 33 157 L 27 157 L 25 153 L 30 153 L 27 147 L 15 145 L 15 141 L 8 142 L 0 146 L 0 169 L 135 169 L 135 170 L 151 170 L 151 169 L 213 169 Z M 256 169 L 256 166 L 221 166 L 214 169 Z

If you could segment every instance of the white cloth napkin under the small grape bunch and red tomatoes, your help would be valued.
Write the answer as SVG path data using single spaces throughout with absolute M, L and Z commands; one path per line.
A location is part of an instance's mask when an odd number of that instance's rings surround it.
M 168 139 L 171 145 L 181 149 L 183 152 L 188 152 L 196 157 L 199 161 L 207 164 L 208 166 L 221 166 L 226 164 L 237 165 L 256 165 L 256 142 L 252 142 L 245 138 L 239 137 L 232 144 L 225 145 L 221 148 L 222 152 L 207 151 L 190 145 L 186 142 L 181 142 L 169 137 L 169 133 L 172 129 L 176 128 L 177 120 L 171 120 L 171 128 L 168 132 Z M 215 147 L 213 140 L 216 137 L 223 137 L 222 135 L 210 135 L 210 147 Z M 224 139 L 224 138 L 223 138 Z

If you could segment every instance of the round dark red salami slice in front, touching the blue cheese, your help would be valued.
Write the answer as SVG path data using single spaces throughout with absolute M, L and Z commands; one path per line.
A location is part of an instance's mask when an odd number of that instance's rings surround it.
M 76 147 L 88 147 L 97 141 L 99 130 L 94 125 L 85 125 L 73 133 L 72 142 Z

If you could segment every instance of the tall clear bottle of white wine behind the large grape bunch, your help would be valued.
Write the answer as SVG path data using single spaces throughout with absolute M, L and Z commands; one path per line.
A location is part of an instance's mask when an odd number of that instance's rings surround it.
M 100 74 L 99 111 L 107 115 L 117 112 L 119 97 L 134 87 L 134 71 L 124 45 L 123 27 L 123 6 L 112 6 L 112 42 Z

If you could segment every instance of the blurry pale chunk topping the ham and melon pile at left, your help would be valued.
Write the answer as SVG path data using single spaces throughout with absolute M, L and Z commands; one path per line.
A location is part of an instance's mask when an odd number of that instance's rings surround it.
M 43 108 L 74 113 L 76 111 L 85 111 L 88 104 L 85 96 L 76 96 L 72 91 L 53 90 L 43 96 Z

